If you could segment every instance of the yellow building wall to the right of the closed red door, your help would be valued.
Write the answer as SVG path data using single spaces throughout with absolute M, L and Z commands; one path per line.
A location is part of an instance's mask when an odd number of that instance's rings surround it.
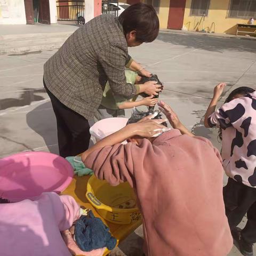
M 215 23 L 215 33 L 236 34 L 237 23 L 247 23 L 248 19 L 228 18 L 230 0 L 210 0 L 208 16 L 205 17 L 205 30 Z M 200 31 L 203 29 L 201 17 L 190 16 L 191 0 L 187 0 L 183 28 Z M 212 30 L 213 31 L 213 26 Z

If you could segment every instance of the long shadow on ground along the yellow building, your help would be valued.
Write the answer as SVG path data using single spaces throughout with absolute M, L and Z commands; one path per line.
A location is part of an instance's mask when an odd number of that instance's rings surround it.
M 183 45 L 188 48 L 202 49 L 212 52 L 223 52 L 225 50 L 239 52 L 256 51 L 256 42 L 247 38 L 223 38 L 207 35 L 191 35 L 176 33 L 159 33 L 158 40 L 174 45 Z

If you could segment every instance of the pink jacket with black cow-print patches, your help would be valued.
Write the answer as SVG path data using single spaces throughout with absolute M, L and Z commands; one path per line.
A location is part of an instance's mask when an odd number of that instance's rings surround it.
M 225 103 L 208 123 L 210 127 L 221 127 L 226 174 L 256 188 L 256 92 Z

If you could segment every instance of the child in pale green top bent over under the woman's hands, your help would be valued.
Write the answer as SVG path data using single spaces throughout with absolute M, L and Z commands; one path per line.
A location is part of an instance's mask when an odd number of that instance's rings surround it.
M 126 82 L 130 84 L 139 84 L 141 76 L 137 73 L 126 70 L 125 71 Z M 108 117 L 124 117 L 126 108 L 133 108 L 139 106 L 155 106 L 158 99 L 154 99 L 153 96 L 143 98 L 136 101 L 138 95 L 135 95 L 131 100 L 127 100 L 120 95 L 114 95 L 110 89 L 109 83 L 106 83 L 105 90 L 103 92 L 103 97 L 101 105 L 98 108 L 97 113 L 94 115 L 99 121 L 103 118 Z

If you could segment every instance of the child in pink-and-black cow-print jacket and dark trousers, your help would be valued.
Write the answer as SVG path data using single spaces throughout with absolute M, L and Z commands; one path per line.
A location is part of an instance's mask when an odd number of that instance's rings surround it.
M 225 86 L 215 86 L 204 124 L 220 128 L 223 167 L 229 177 L 223 188 L 226 215 L 239 250 L 252 256 L 252 245 L 256 243 L 256 92 L 239 87 L 215 110 Z M 241 230 L 237 225 L 246 213 L 247 223 Z

